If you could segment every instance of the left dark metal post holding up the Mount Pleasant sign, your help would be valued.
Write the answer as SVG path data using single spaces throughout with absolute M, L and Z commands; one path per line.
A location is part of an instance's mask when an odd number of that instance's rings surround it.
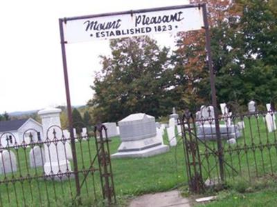
M 67 103 L 67 115 L 69 118 L 69 132 L 71 137 L 71 150 L 73 157 L 73 168 L 74 168 L 74 176 L 75 176 L 75 186 L 76 186 L 76 196 L 80 197 L 80 181 L 78 175 L 78 164 L 77 164 L 77 155 L 75 148 L 75 139 L 73 133 L 73 121 L 72 121 L 72 111 L 71 111 L 71 100 L 70 100 L 70 92 L 69 92 L 69 77 L 67 74 L 67 64 L 66 64 L 66 51 L 65 51 L 65 41 L 64 41 L 64 28 L 62 26 L 63 19 L 59 19 L 60 25 L 60 41 L 62 48 L 62 64 L 64 67 L 64 84 L 66 90 L 66 103 Z

